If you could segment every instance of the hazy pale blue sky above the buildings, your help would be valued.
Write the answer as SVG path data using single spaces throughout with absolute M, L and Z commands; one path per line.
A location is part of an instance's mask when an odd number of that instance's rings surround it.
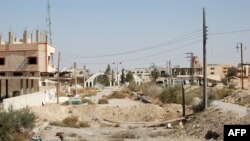
M 189 52 L 202 63 L 202 10 L 208 26 L 207 62 L 250 62 L 249 0 L 50 0 L 54 63 L 84 65 L 91 72 L 107 64 L 121 69 L 189 67 Z M 0 0 L 0 34 L 46 30 L 47 0 Z

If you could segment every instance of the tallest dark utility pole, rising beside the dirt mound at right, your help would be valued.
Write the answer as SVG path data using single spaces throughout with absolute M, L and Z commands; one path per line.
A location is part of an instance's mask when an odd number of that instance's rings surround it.
M 207 26 L 206 26 L 206 13 L 203 8 L 203 106 L 204 111 L 207 108 Z

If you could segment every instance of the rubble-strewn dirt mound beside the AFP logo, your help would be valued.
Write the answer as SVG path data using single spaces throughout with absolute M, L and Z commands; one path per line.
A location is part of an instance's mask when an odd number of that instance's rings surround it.
M 185 124 L 186 133 L 193 137 L 205 137 L 207 133 L 213 132 L 219 135 L 218 140 L 223 139 L 225 124 L 249 124 L 250 118 L 239 116 L 232 112 L 210 108 L 206 112 L 197 113 L 190 117 Z

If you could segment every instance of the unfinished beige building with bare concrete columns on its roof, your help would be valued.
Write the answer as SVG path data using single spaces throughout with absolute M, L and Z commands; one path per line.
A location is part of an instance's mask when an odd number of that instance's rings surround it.
M 18 39 L 9 32 L 8 41 L 0 36 L 0 99 L 39 91 L 41 79 L 54 74 L 55 48 L 45 33 L 30 37 L 24 31 Z

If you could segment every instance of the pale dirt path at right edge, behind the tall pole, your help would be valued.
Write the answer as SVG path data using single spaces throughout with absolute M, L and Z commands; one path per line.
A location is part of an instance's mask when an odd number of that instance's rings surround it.
M 239 113 L 243 116 L 248 115 L 249 111 L 247 110 L 246 107 L 244 106 L 240 106 L 237 104 L 232 104 L 232 103 L 226 103 L 226 102 L 222 102 L 222 101 L 213 101 L 213 106 L 220 108 L 222 110 L 226 110 L 226 111 L 231 111 L 231 112 L 235 112 L 235 113 Z

